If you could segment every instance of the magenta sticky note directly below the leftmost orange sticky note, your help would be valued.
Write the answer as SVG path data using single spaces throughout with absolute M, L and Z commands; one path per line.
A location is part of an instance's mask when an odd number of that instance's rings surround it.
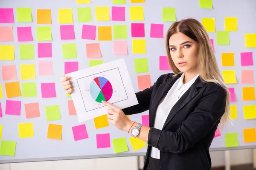
M 21 101 L 6 100 L 6 115 L 20 116 Z

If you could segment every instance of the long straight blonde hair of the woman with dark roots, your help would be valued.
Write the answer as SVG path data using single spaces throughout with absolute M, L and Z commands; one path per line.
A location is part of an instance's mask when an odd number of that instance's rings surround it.
M 198 42 L 198 70 L 201 80 L 204 82 L 215 82 L 223 87 L 227 92 L 225 113 L 221 117 L 221 122 L 219 124 L 219 128 L 221 130 L 227 123 L 227 120 L 230 119 L 230 92 L 225 85 L 222 75 L 219 71 L 207 31 L 198 20 L 192 18 L 177 21 L 173 23 L 172 26 L 169 28 L 166 34 L 166 52 L 170 67 L 175 73 L 174 76 L 182 73 L 172 61 L 169 48 L 169 39 L 173 34 L 177 32 L 183 33 Z

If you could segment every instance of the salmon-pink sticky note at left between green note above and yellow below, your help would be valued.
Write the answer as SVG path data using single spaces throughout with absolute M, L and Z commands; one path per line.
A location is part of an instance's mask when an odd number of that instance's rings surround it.
M 26 119 L 40 117 L 39 103 L 25 103 Z

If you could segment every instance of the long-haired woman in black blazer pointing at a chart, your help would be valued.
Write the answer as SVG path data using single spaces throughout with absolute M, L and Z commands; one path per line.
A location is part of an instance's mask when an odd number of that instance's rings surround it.
M 148 143 L 144 170 L 211 170 L 209 147 L 230 113 L 230 94 L 221 77 L 207 31 L 194 19 L 175 22 L 166 35 L 174 74 L 161 75 L 136 93 L 139 104 L 107 105 L 108 122 Z M 68 94 L 71 82 L 61 82 Z M 125 115 L 149 110 L 149 127 Z M 221 128 L 220 127 L 220 128 Z

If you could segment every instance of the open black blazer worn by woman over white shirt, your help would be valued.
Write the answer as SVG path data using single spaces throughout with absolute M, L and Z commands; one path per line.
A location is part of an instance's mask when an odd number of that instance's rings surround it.
M 203 82 L 198 77 L 170 111 L 163 129 L 154 128 L 157 106 L 175 81 L 164 74 L 150 88 L 136 93 L 139 104 L 123 109 L 126 115 L 149 109 L 148 149 L 144 170 L 148 166 L 151 147 L 160 150 L 162 170 L 211 170 L 209 147 L 224 114 L 227 93 L 220 85 Z

